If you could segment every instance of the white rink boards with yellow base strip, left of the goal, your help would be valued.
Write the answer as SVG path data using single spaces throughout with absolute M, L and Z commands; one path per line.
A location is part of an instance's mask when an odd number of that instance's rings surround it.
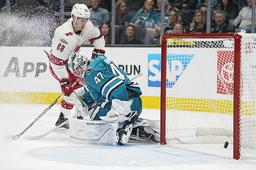
M 49 60 L 43 50 L 50 47 L 0 47 L 0 103 L 50 104 L 61 88 L 49 71 Z M 81 47 L 91 56 L 93 47 Z M 106 47 L 106 56 L 136 79 L 143 95 L 143 108 L 160 108 L 161 47 Z M 150 56 L 153 56 L 150 57 Z M 154 57 L 156 56 L 156 57 Z M 152 71 L 150 71 L 152 70 Z

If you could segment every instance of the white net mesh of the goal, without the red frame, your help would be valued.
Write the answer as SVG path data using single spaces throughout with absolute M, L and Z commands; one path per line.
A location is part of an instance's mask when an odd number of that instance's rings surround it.
M 245 155 L 256 154 L 255 48 L 254 37 L 243 36 L 240 144 Z M 234 39 L 167 39 L 166 76 L 166 140 L 182 141 L 191 137 L 193 143 L 199 136 L 226 136 L 230 140 Z

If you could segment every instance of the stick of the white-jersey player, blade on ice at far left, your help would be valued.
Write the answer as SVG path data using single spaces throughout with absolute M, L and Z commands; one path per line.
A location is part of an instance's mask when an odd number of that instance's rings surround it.
M 79 80 L 80 80 L 80 79 L 77 79 L 76 82 L 74 82 L 71 87 L 73 87 Z M 5 134 L 5 135 L 4 135 L 4 139 L 5 139 L 5 140 L 16 140 L 16 139 L 20 138 L 20 136 L 22 136 L 22 134 L 25 133 L 25 131 L 27 131 L 34 123 L 36 123 L 36 122 L 39 120 L 39 118 L 41 118 L 44 114 L 46 114 L 46 112 L 47 112 L 50 108 L 52 108 L 52 106 L 55 105 L 55 104 L 59 101 L 59 99 L 61 99 L 61 97 L 62 97 L 63 95 L 64 95 L 64 92 L 63 92 L 56 100 L 54 100 L 54 101 L 52 102 L 52 104 L 50 104 L 50 105 L 48 106 L 48 108 L 46 108 L 46 110 L 44 110 L 32 123 L 30 123 L 30 125 L 28 125 L 28 127 L 26 127 L 26 129 L 24 129 L 24 131 L 20 132 L 20 133 L 17 134 L 17 135 Z

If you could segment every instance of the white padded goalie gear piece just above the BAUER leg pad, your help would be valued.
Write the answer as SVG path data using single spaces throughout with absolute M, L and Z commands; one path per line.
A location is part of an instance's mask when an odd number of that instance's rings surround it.
M 137 111 L 131 111 L 131 105 L 132 100 L 121 101 L 119 99 L 113 99 L 111 110 L 109 110 L 106 116 L 100 116 L 100 118 L 103 121 L 110 121 L 113 123 L 130 121 L 133 116 L 137 115 Z

